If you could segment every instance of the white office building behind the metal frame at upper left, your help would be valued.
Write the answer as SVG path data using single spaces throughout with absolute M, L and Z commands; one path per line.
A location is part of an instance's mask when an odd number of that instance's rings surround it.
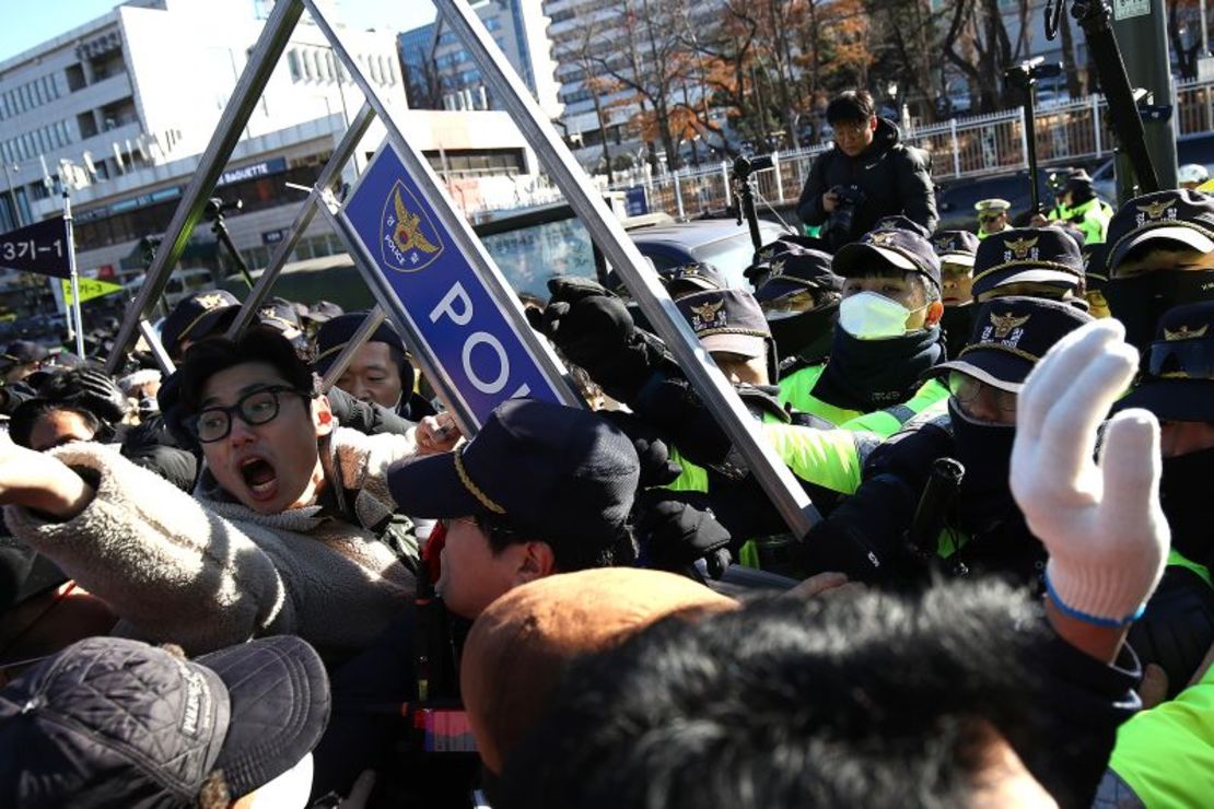
M 0 228 L 57 215 L 67 188 L 83 273 L 127 280 L 138 245 L 168 227 L 198 169 L 271 4 L 131 0 L 0 63 Z M 330 18 L 331 19 L 331 18 Z M 339 21 L 340 22 L 340 21 Z M 407 109 L 395 32 L 341 28 L 344 45 L 393 120 L 475 211 L 520 204 L 534 187 L 534 155 L 503 113 Z M 295 217 L 362 92 L 305 15 L 249 119 L 215 194 L 239 199 L 227 216 L 242 256 L 263 266 Z M 374 125 L 361 164 L 384 136 Z M 347 166 L 346 180 L 354 180 Z M 185 266 L 231 269 L 205 222 Z M 297 256 L 344 250 L 319 220 Z M 210 257 L 203 257 L 208 252 Z M 13 274 L 0 277 L 0 289 Z

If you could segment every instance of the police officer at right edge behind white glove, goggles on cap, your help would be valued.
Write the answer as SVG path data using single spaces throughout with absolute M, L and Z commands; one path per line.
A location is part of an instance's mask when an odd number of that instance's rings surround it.
M 1214 668 L 1190 686 L 1214 640 L 1214 302 L 1168 311 L 1150 344 L 1144 376 L 1118 409 L 1159 418 L 1159 500 L 1172 531 L 1168 566 L 1129 643 L 1144 666 L 1167 674 L 1165 701 L 1118 729 L 1097 794 L 1117 805 L 1206 803 L 1214 771 Z M 1110 803 L 1108 805 L 1113 805 Z

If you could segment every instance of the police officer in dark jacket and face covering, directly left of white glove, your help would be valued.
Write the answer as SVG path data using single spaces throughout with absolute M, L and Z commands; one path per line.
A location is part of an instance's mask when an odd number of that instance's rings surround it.
M 948 412 L 870 454 L 856 494 L 804 539 L 807 570 L 906 582 L 940 556 L 953 572 L 1034 579 L 1044 552 L 1008 482 L 1017 394 L 1050 346 L 1090 320 L 1057 301 L 1006 297 L 982 304 L 965 349 L 932 370 L 948 381 Z M 917 524 L 924 520 L 917 509 L 932 465 L 943 457 L 964 468 L 960 486 L 942 498 L 934 519 Z

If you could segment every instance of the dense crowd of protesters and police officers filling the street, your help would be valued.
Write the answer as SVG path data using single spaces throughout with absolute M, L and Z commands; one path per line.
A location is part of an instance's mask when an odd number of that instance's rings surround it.
M 10 344 L 0 805 L 1208 805 L 1214 196 L 934 232 L 828 119 L 817 235 L 662 274 L 804 535 L 611 279 L 526 307 L 588 406 L 475 435 L 324 302 Z

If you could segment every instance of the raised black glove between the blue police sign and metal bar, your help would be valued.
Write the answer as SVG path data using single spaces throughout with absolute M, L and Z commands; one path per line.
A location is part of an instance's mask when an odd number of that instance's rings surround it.
M 548 287 L 538 330 L 608 395 L 630 401 L 652 374 L 674 366 L 662 341 L 637 329 L 624 302 L 596 281 L 554 278 Z

